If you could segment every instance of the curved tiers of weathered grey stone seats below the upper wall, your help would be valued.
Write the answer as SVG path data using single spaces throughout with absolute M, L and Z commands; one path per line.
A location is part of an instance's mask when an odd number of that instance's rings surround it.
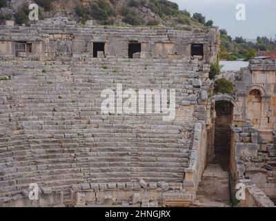
M 179 106 L 198 90 L 188 80 L 198 66 L 128 61 L 0 64 L 0 75 L 11 77 L 0 81 L 0 196 L 32 182 L 57 189 L 139 178 L 182 182 L 193 125 L 161 115 L 102 115 L 100 94 L 117 83 L 177 88 Z

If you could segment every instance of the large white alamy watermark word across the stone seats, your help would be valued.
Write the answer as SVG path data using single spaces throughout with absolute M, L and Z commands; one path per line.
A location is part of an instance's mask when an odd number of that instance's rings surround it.
M 175 89 L 139 89 L 137 91 L 129 88 L 123 91 L 122 84 L 117 84 L 116 92 L 105 89 L 101 92 L 101 98 L 105 98 L 101 103 L 103 114 L 151 114 L 153 112 L 162 114 L 166 122 L 175 119 Z

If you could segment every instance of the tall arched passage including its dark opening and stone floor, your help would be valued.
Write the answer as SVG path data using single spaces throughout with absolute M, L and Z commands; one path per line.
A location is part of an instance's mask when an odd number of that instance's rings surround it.
M 230 206 L 230 144 L 233 123 L 233 104 L 227 101 L 215 102 L 214 140 L 210 138 L 210 162 L 208 163 L 199 191 L 197 206 Z M 211 136 L 213 133 L 210 133 Z

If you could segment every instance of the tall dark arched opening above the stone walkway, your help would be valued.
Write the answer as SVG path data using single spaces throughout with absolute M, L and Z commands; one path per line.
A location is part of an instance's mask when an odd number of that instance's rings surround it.
M 233 124 L 233 104 L 227 101 L 215 102 L 215 139 L 213 163 L 221 165 L 224 171 L 228 171 L 230 164 L 230 148 Z

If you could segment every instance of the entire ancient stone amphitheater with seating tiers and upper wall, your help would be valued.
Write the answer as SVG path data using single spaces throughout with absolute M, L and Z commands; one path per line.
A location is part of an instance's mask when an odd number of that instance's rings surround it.
M 77 26 L 66 18 L 0 26 L 0 206 L 196 204 L 219 99 L 208 99 L 218 48 L 217 29 Z M 175 119 L 103 114 L 101 92 L 117 84 L 175 89 Z M 30 184 L 38 200 L 30 200 Z

